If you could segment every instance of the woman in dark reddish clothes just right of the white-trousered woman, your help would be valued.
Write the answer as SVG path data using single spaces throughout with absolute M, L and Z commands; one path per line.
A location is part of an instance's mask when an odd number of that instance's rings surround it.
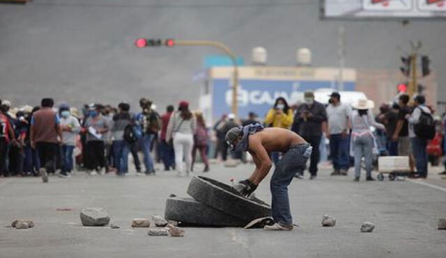
M 208 129 L 206 128 L 206 122 L 204 122 L 203 113 L 201 111 L 195 111 L 195 118 L 197 118 L 197 129 L 195 129 L 194 134 L 194 147 L 192 148 L 192 166 L 191 170 L 194 170 L 195 155 L 197 150 L 199 150 L 201 155 L 201 160 L 204 163 L 203 172 L 209 171 L 208 156 L 206 155 L 206 150 L 208 147 Z

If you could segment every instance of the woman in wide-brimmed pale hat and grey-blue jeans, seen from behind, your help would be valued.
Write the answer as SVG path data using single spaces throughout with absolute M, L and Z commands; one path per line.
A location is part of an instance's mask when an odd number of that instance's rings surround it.
M 369 99 L 358 99 L 352 104 L 353 112 L 351 113 L 351 129 L 352 139 L 350 144 L 351 156 L 355 157 L 355 182 L 360 181 L 361 175 L 361 160 L 364 156 L 366 180 L 374 181 L 371 177 L 371 164 L 373 161 L 373 152 L 376 148 L 374 134 L 370 127 L 378 129 L 385 129 L 383 124 L 375 122 L 374 115 L 370 109 L 374 108 L 375 104 Z

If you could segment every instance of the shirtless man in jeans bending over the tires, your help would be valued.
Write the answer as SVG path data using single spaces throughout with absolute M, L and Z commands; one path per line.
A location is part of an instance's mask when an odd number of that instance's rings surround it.
M 245 197 L 249 197 L 268 175 L 272 166 L 270 153 L 284 153 L 282 159 L 277 163 L 270 182 L 271 210 L 275 224 L 267 225 L 264 229 L 293 229 L 288 186 L 295 172 L 305 167 L 307 159 L 312 154 L 312 147 L 309 143 L 293 131 L 277 127 L 263 129 L 260 124 L 234 127 L 227 132 L 225 140 L 231 150 L 249 152 L 256 165 L 251 177 L 234 186 Z

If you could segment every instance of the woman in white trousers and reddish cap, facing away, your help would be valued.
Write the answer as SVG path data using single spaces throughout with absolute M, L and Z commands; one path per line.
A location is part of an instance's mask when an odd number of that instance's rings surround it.
M 197 122 L 194 115 L 189 111 L 189 102 L 182 101 L 178 105 L 178 111 L 171 115 L 167 126 L 166 140 L 174 140 L 175 163 L 178 176 L 182 175 L 186 161 L 185 172 L 189 175 L 192 163 L 192 145 L 194 144 L 194 133 Z

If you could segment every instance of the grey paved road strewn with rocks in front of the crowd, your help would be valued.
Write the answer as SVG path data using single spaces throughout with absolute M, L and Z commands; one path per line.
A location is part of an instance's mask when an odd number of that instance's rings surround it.
M 206 175 L 229 183 L 251 170 L 214 165 Z M 291 184 L 293 217 L 300 225 L 292 232 L 187 228 L 184 238 L 151 237 L 130 227 L 132 218 L 162 214 L 170 193 L 185 195 L 190 178 L 174 172 L 124 179 L 78 172 L 71 179 L 50 177 L 49 184 L 2 178 L 0 257 L 446 257 L 446 231 L 436 229 L 438 218 L 446 217 L 444 179 L 355 183 L 351 175 L 328 174 L 323 169 L 314 181 Z M 269 200 L 266 182 L 257 196 Z M 79 210 L 92 206 L 104 207 L 121 229 L 79 225 Z M 337 218 L 336 227 L 321 227 L 325 213 Z M 7 227 L 13 218 L 30 218 L 36 227 Z M 360 233 L 364 221 L 375 223 L 373 233 Z

